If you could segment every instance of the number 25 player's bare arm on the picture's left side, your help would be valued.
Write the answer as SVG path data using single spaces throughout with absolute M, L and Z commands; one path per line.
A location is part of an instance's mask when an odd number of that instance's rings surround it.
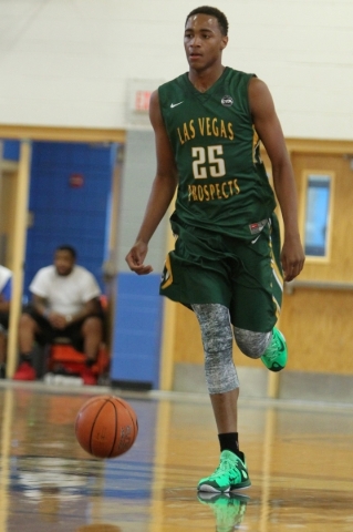
M 165 215 L 178 183 L 174 153 L 162 117 L 158 91 L 150 95 L 149 120 L 155 132 L 157 172 L 137 238 L 125 257 L 129 269 L 138 275 L 153 270 L 152 266 L 144 264 L 148 243 Z

